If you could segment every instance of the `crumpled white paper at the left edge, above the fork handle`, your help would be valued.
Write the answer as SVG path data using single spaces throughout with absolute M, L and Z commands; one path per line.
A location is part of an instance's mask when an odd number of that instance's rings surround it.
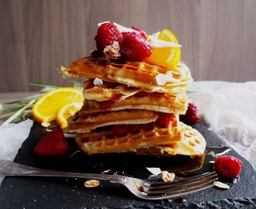
M 33 125 L 32 120 L 26 120 L 19 124 L 8 124 L 0 126 L 0 159 L 13 160 L 18 153 L 22 142 L 29 136 Z M 0 176 L 0 185 L 4 176 Z

